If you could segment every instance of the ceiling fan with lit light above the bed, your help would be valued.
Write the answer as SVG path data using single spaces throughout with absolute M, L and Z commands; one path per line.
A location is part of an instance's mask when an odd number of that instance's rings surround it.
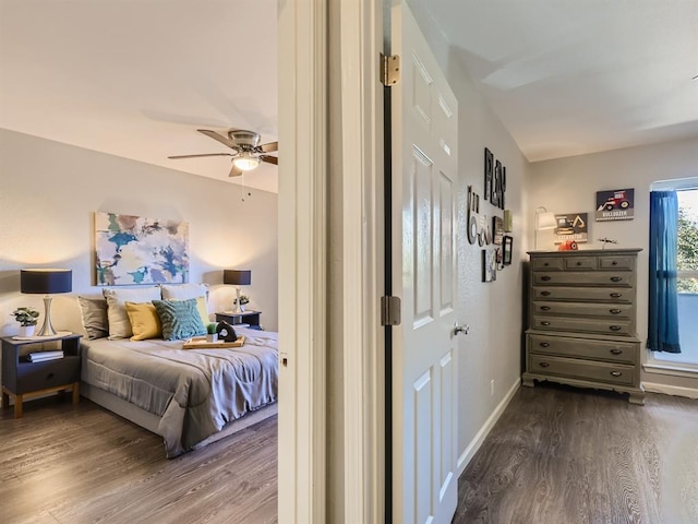
M 171 159 L 179 158 L 196 158 L 200 156 L 231 156 L 232 157 L 232 168 L 230 169 L 229 177 L 239 177 L 244 171 L 251 171 L 260 166 L 261 162 L 266 162 L 268 164 L 274 164 L 277 166 L 279 164 L 278 156 L 267 155 L 266 153 L 272 153 L 278 151 L 279 143 L 278 142 L 269 142 L 268 144 L 260 145 L 260 134 L 254 131 L 245 131 L 244 129 L 231 129 L 228 131 L 228 136 L 224 136 L 215 131 L 210 131 L 208 129 L 197 129 L 200 133 L 205 134 L 214 140 L 217 140 L 224 145 L 227 145 L 234 153 L 202 153 L 198 155 L 174 155 L 168 156 Z

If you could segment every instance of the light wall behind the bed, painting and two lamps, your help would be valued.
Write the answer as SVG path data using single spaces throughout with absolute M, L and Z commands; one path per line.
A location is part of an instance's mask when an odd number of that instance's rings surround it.
M 229 310 L 234 297 L 222 270 L 249 269 L 242 293 L 277 330 L 276 194 L 0 130 L 0 334 L 16 334 L 14 308 L 44 310 L 39 295 L 20 294 L 19 270 L 32 266 L 73 270 L 73 293 L 53 297 L 52 320 L 81 330 L 75 297 L 101 293 L 95 212 L 189 222 L 189 282 L 209 284 L 209 309 Z

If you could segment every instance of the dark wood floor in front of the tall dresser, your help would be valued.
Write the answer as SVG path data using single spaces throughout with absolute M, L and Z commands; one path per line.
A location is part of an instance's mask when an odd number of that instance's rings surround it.
M 521 388 L 458 496 L 458 524 L 696 524 L 698 401 Z

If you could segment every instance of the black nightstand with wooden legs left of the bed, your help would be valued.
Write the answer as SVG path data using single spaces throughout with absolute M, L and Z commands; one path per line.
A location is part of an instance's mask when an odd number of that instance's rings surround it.
M 80 340 L 82 335 L 65 335 L 46 342 L 60 343 L 63 358 L 29 362 L 21 355 L 22 346 L 45 342 L 17 341 L 2 337 L 2 407 L 10 407 L 14 398 L 14 418 L 22 417 L 22 403 L 27 396 L 73 390 L 73 404 L 80 402 Z

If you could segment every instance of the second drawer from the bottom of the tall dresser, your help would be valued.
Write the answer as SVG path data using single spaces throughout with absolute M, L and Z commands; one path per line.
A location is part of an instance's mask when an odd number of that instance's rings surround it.
M 606 342 L 565 336 L 528 335 L 530 354 L 543 353 L 561 357 L 579 357 L 592 360 L 635 364 L 639 344 L 633 342 Z

